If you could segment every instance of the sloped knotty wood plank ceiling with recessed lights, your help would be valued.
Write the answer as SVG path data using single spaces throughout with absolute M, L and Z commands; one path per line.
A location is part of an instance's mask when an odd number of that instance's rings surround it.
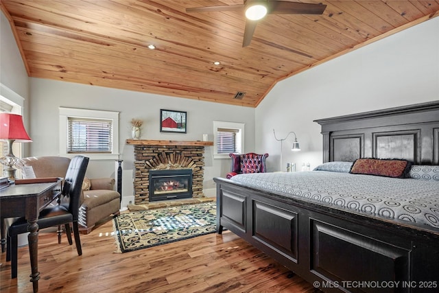
M 248 47 L 241 12 L 186 12 L 242 0 L 1 0 L 1 9 L 29 76 L 248 107 L 284 78 L 439 15 L 439 0 L 303 2 L 327 8 L 269 14 Z

